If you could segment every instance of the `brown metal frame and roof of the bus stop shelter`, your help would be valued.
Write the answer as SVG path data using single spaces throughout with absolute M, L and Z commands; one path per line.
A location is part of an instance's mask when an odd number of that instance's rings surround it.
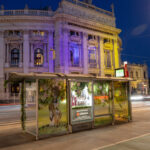
M 66 82 L 66 114 L 67 114 L 67 131 L 65 132 L 58 132 L 56 134 L 51 134 L 51 133 L 45 133 L 44 136 L 40 136 L 39 134 L 39 80 L 40 79 L 62 79 L 65 80 Z M 47 137 L 47 136 L 54 136 L 54 135 L 60 135 L 60 134 L 68 134 L 72 132 L 76 132 L 78 130 L 84 130 L 84 129 L 92 129 L 97 126 L 94 125 L 94 120 L 95 120 L 95 115 L 94 115 L 94 94 L 93 94 L 93 85 L 96 82 L 109 82 L 111 83 L 112 86 L 112 101 L 111 101 L 111 113 L 108 114 L 102 114 L 99 117 L 107 117 L 111 116 L 112 120 L 110 121 L 109 124 L 115 125 L 118 123 L 116 120 L 116 107 L 115 107 L 115 97 L 114 97 L 114 84 L 118 82 L 120 83 L 125 83 L 124 85 L 126 86 L 126 93 L 127 93 L 127 99 L 126 99 L 126 104 L 127 104 L 127 113 L 128 113 L 128 118 L 124 119 L 121 122 L 129 122 L 132 120 L 132 109 L 131 109 L 131 102 L 130 102 L 130 81 L 132 80 L 131 78 L 116 78 L 116 77 L 95 77 L 92 75 L 84 75 L 84 74 L 62 74 L 62 73 L 29 73 L 29 74 L 24 74 L 24 73 L 10 73 L 9 75 L 9 80 L 13 82 L 21 82 L 23 84 L 23 90 L 22 92 L 25 92 L 25 83 L 27 81 L 30 81 L 30 83 L 34 82 L 35 83 L 35 105 L 34 105 L 34 110 L 35 110 L 35 120 L 34 120 L 34 132 L 32 130 L 28 130 L 25 128 L 25 131 L 34 135 L 36 137 L 36 140 Z M 86 82 L 86 83 L 92 83 L 92 119 L 88 120 L 87 122 L 85 121 L 79 121 L 77 123 L 72 123 L 72 107 L 71 107 L 71 83 L 72 82 Z M 29 89 L 30 91 L 30 89 Z M 23 95 L 23 99 L 25 100 L 25 94 Z M 26 105 L 22 105 L 26 109 Z M 122 111 L 121 109 L 119 111 Z M 27 121 L 24 122 L 25 126 L 27 124 Z M 50 127 L 49 127 L 50 128 Z M 47 131 L 45 131 L 47 132 Z

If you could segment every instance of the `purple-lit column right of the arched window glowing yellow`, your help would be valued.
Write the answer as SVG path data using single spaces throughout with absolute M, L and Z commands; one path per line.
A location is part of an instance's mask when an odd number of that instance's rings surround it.
M 49 31 L 48 33 L 48 46 L 47 46 L 47 52 L 48 52 L 48 71 L 54 72 L 54 60 L 53 60 L 53 32 Z

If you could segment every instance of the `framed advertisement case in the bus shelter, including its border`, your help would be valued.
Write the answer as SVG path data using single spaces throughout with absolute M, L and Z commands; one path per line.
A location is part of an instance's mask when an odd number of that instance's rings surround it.
M 70 91 L 70 99 L 69 99 L 70 124 L 77 125 L 77 124 L 88 123 L 88 122 L 92 123 L 94 120 L 93 82 L 90 80 L 81 80 L 81 79 L 70 80 L 69 89 L 70 89 L 69 90 Z

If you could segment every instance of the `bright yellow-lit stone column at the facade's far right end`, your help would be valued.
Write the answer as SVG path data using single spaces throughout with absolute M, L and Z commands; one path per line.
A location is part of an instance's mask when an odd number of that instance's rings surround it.
M 115 69 L 119 68 L 119 54 L 118 54 L 118 43 L 117 37 L 114 40 L 114 58 L 115 58 Z

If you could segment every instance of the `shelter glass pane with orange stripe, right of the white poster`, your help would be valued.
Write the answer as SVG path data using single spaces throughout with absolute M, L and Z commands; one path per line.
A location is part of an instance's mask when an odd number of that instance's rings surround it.
M 95 126 L 111 123 L 112 84 L 110 82 L 97 81 L 93 85 L 93 92 L 94 92 Z

